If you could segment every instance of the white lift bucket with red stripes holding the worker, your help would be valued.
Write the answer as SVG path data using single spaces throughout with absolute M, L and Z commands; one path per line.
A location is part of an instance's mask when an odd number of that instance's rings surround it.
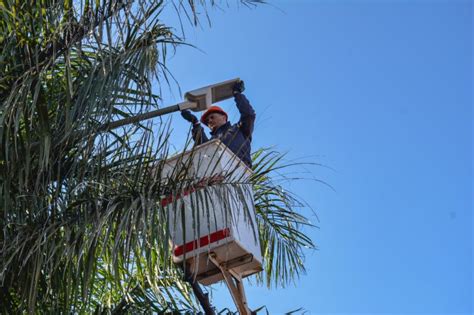
M 176 174 L 187 170 L 186 174 Z M 165 181 L 179 181 L 161 204 L 169 214 L 173 260 L 186 262 L 196 279 L 223 279 L 209 259 L 246 277 L 262 270 L 251 170 L 220 140 L 209 141 L 166 161 Z M 199 227 L 199 228 L 198 228 Z

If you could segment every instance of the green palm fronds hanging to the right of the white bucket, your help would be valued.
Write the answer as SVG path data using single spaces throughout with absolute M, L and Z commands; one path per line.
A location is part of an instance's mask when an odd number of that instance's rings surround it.
M 304 201 L 273 179 L 279 170 L 298 165 L 285 164 L 284 154 L 265 148 L 255 151 L 252 159 L 251 182 L 265 271 L 258 281 L 268 287 L 285 286 L 306 270 L 304 250 L 316 246 L 305 229 L 314 225 L 300 213 L 306 207 Z

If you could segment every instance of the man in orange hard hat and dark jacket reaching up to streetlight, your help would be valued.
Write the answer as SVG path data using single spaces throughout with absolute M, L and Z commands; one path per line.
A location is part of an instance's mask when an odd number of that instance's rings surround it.
M 244 81 L 239 81 L 232 87 L 234 100 L 240 112 L 240 120 L 237 124 L 228 121 L 227 113 L 219 106 L 211 106 L 202 115 L 201 122 L 211 130 L 211 138 L 208 139 L 204 128 L 196 116 L 189 110 L 181 112 L 184 119 L 193 124 L 193 140 L 196 145 L 209 140 L 220 139 L 232 150 L 247 166 L 252 167 L 250 158 L 250 142 L 252 141 L 253 126 L 255 123 L 255 111 L 250 105 L 247 97 L 242 92 L 245 90 Z

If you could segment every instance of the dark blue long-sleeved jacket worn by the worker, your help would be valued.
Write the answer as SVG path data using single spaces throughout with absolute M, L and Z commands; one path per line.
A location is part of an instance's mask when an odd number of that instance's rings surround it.
M 211 132 L 210 139 L 206 136 L 204 128 L 200 124 L 196 124 L 193 127 L 193 139 L 197 145 L 209 140 L 220 139 L 247 164 L 247 166 L 252 167 L 250 143 L 252 141 L 253 126 L 255 123 L 255 111 L 245 95 L 236 94 L 234 99 L 240 112 L 240 120 L 237 124 L 232 125 L 230 122 L 225 123 L 216 131 Z

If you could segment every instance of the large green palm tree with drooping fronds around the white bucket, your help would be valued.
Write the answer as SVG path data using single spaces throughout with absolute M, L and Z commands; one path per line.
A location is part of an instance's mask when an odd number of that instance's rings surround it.
M 260 1 L 241 1 L 252 5 Z M 214 5 L 214 2 L 211 2 Z M 199 310 L 172 263 L 159 200 L 170 128 L 108 129 L 157 108 L 169 49 L 184 42 L 160 19 L 199 23 L 200 1 L 0 1 L 0 310 L 123 313 Z M 105 127 L 104 127 L 105 126 Z M 153 128 L 152 128 L 153 127 Z M 264 257 L 258 281 L 304 272 L 298 199 L 272 173 L 282 156 L 254 153 L 251 179 Z

